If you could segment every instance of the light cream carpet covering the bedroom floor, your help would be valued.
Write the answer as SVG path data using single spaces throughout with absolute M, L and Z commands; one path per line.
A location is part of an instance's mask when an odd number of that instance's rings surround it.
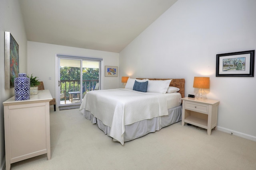
M 255 170 L 256 142 L 181 121 L 124 143 L 112 141 L 78 109 L 50 111 L 51 160 L 46 154 L 12 170 Z

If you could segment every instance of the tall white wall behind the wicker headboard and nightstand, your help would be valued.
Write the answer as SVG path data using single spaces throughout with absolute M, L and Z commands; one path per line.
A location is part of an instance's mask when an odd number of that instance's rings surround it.
M 120 53 L 120 77 L 210 77 L 218 130 L 256 141 L 255 77 L 216 77 L 216 54 L 256 49 L 255 0 L 178 0 Z M 120 84 L 120 87 L 122 84 Z

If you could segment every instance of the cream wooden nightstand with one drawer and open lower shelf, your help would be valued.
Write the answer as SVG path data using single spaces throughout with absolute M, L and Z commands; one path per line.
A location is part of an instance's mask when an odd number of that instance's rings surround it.
M 211 135 L 212 129 L 217 130 L 219 103 L 218 100 L 182 98 L 182 126 L 189 123 L 202 127 Z

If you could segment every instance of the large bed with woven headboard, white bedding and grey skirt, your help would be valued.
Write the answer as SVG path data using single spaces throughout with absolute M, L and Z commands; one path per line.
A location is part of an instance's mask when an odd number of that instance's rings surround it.
M 129 80 L 133 79 L 128 79 L 128 82 L 131 82 Z M 127 82 L 126 88 L 90 91 L 86 93 L 80 106 L 80 111 L 86 119 L 97 124 L 106 135 L 113 138 L 113 141 L 118 141 L 122 145 L 126 141 L 159 131 L 181 121 L 182 118 L 181 98 L 184 97 L 185 84 L 183 78 L 134 80 L 136 81 L 133 84 Z M 131 89 L 135 84 L 141 87 L 146 82 L 148 92 Z M 178 90 L 162 93 L 160 88 L 158 92 L 159 89 L 152 86 L 152 83 L 156 82 L 168 82 L 167 91 L 174 87 Z M 157 92 L 154 92 L 156 89 Z

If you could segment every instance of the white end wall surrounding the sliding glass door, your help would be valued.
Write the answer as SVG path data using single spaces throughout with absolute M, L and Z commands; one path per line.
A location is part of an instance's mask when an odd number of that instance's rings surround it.
M 43 81 L 45 88 L 50 90 L 53 98 L 55 98 L 55 84 L 58 84 L 58 81 L 55 82 L 56 54 L 102 58 L 103 66 L 119 66 L 118 53 L 28 41 L 28 74 L 33 74 Z M 118 88 L 119 78 L 105 77 L 104 72 L 103 67 L 101 89 Z

